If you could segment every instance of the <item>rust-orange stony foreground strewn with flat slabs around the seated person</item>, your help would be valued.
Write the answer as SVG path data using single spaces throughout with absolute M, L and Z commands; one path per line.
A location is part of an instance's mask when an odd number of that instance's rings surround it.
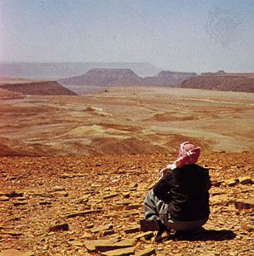
M 163 243 L 141 232 L 147 190 L 174 158 L 0 158 L 0 255 L 253 255 L 253 153 L 200 157 L 212 180 L 206 231 Z

